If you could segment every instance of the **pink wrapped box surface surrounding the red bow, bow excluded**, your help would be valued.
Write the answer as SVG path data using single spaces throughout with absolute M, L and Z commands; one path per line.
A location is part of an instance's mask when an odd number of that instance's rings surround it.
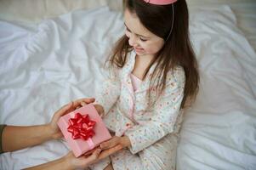
M 67 128 L 70 126 L 69 120 L 71 118 L 74 118 L 77 113 L 80 113 L 82 116 L 88 114 L 89 119 L 96 122 L 93 127 L 95 134 L 92 138 L 88 138 L 86 140 L 80 138 L 73 139 L 72 133 L 68 132 Z M 111 134 L 105 127 L 104 122 L 94 108 L 93 104 L 85 105 L 77 109 L 76 111 L 71 111 L 65 116 L 61 116 L 60 120 L 58 121 L 58 126 L 60 127 L 60 130 L 63 133 L 67 144 L 69 145 L 76 157 L 81 156 L 88 150 L 94 149 L 94 147 L 99 145 L 101 142 L 107 139 L 111 139 Z

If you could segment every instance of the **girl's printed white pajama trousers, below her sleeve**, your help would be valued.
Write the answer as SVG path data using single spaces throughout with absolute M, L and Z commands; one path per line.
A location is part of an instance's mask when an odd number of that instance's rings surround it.
M 121 150 L 111 156 L 112 166 L 115 170 L 175 169 L 176 141 L 174 135 L 168 134 L 138 154 Z

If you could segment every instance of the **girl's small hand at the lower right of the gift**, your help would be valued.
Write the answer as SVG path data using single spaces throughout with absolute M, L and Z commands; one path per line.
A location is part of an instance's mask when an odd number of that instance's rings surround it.
M 118 144 L 121 145 L 122 148 L 126 148 L 131 145 L 131 141 L 127 136 L 122 136 L 122 137 L 114 136 L 111 139 L 101 143 L 100 149 L 102 150 L 110 149 L 117 146 Z

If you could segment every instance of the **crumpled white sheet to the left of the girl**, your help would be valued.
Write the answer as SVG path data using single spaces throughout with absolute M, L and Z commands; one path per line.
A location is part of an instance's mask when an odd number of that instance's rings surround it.
M 122 14 L 99 8 L 64 14 L 38 26 L 0 22 L 0 123 L 43 124 L 73 99 L 93 97 L 101 64 L 123 33 Z M 0 169 L 20 169 L 65 155 L 49 141 L 0 157 Z

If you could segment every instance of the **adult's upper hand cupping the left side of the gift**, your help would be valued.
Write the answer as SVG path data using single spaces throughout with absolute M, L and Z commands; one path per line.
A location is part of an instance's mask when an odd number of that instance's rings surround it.
M 77 99 L 69 103 L 68 105 L 64 105 L 63 107 L 61 107 L 59 111 L 56 111 L 54 113 L 52 121 L 46 125 L 47 130 L 49 130 L 49 132 L 51 132 L 52 134 L 52 139 L 59 139 L 60 137 L 62 137 L 62 133 L 60 132 L 60 129 L 57 125 L 60 116 L 64 116 L 71 111 L 75 111 L 77 107 L 81 107 L 82 105 L 87 105 L 93 102 L 94 99 Z

